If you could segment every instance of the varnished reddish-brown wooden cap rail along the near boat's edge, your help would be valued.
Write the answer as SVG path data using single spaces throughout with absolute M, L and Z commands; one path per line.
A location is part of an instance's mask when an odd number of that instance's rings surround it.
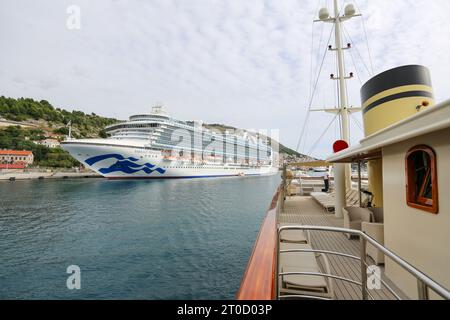
M 280 187 L 281 188 L 281 187 Z M 270 210 L 259 231 L 247 265 L 237 300 L 275 300 L 277 266 L 277 212 L 280 189 L 273 197 Z

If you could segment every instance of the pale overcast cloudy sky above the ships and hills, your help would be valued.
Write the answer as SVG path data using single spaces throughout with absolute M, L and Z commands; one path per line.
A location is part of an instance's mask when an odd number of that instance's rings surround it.
M 358 75 L 351 104 L 360 104 L 372 72 L 404 64 L 428 66 L 438 101 L 450 97 L 450 1 L 354 3 L 365 28 L 360 18 L 345 26 L 354 45 L 347 71 Z M 71 5 L 80 8 L 79 30 L 67 28 Z M 332 1 L 2 0 L 0 95 L 121 119 L 159 102 L 180 119 L 280 129 L 295 149 L 331 32 L 312 23 L 325 5 Z M 315 107 L 336 105 L 334 61 L 325 58 Z M 332 119 L 313 114 L 300 151 L 326 156 L 337 124 L 319 137 Z M 362 137 L 361 122 L 352 117 L 352 142 Z

